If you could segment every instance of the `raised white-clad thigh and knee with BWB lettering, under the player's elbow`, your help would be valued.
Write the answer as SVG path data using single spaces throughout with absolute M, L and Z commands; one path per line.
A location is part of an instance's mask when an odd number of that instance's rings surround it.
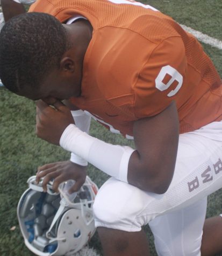
M 96 226 L 140 231 L 155 217 L 197 202 L 222 187 L 221 159 L 221 142 L 194 134 L 180 136 L 174 177 L 167 192 L 156 195 L 111 178 L 95 199 Z

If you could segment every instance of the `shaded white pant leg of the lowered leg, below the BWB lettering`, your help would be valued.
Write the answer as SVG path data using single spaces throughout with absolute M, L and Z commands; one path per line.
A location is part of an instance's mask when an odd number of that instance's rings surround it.
M 149 223 L 159 256 L 199 256 L 207 198 Z

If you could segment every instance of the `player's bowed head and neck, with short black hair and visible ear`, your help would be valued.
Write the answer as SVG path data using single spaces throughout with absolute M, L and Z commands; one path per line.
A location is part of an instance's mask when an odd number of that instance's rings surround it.
M 85 24 L 61 24 L 46 13 L 13 17 L 0 33 L 4 86 L 32 100 L 80 95 L 89 30 Z

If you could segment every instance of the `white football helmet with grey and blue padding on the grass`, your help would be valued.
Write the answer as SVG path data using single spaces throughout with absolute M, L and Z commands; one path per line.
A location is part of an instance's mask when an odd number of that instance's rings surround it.
M 67 193 L 71 181 L 59 187 L 60 193 L 53 192 L 52 183 L 43 192 L 42 181 L 36 184 L 35 177 L 28 179 L 29 188 L 17 207 L 25 245 L 40 256 L 71 255 L 81 250 L 96 231 L 92 204 L 97 185 L 87 176 L 81 189 L 71 195 Z

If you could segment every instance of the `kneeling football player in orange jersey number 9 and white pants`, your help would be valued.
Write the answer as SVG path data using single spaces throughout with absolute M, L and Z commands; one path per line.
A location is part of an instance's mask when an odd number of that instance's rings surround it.
M 87 162 L 111 176 L 94 203 L 105 255 L 149 255 L 147 223 L 159 255 L 222 251 L 221 217 L 204 224 L 222 186 L 222 81 L 173 19 L 130 0 L 39 0 L 3 27 L 0 78 L 37 101 L 37 135 L 72 154 L 39 168 L 45 190 L 77 191 Z M 88 135 L 91 118 L 135 149 Z

